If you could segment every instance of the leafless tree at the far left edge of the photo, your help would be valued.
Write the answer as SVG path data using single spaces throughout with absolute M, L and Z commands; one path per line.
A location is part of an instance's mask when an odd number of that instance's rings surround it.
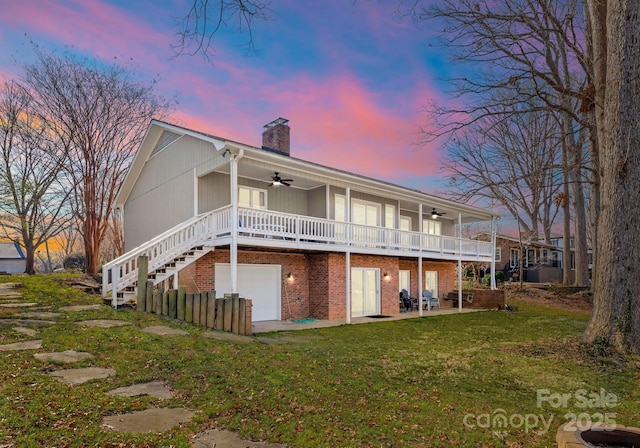
M 19 237 L 28 274 L 40 245 L 69 223 L 72 188 L 63 177 L 66 151 L 39 117 L 31 92 L 6 82 L 0 92 L 0 213 L 5 237 Z

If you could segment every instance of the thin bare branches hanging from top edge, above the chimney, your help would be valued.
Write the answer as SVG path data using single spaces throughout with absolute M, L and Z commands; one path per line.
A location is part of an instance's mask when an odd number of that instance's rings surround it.
M 213 38 L 224 28 L 245 34 L 245 46 L 253 50 L 256 22 L 273 20 L 268 0 L 192 0 L 189 11 L 177 21 L 175 54 L 209 60 L 214 54 Z

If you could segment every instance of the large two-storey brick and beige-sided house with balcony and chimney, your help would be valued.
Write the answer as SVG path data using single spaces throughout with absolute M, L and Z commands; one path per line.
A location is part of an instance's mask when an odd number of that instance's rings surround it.
M 153 121 L 117 198 L 128 252 L 103 267 L 103 295 L 129 300 L 148 255 L 156 284 L 237 292 L 254 321 L 349 322 L 398 314 L 403 288 L 443 297 L 458 262 L 491 262 L 493 245 L 457 228 L 494 213 L 291 157 L 289 138 L 282 118 L 261 148 Z

